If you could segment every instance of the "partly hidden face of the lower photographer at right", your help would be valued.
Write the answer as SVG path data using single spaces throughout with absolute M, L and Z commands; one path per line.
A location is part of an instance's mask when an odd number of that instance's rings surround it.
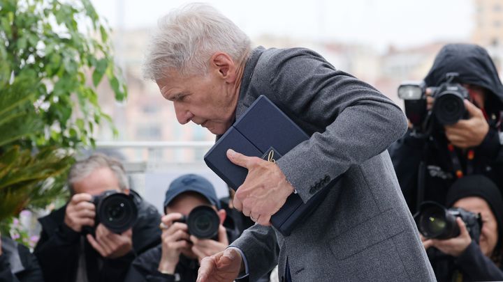
M 470 212 L 480 213 L 482 230 L 479 246 L 485 256 L 490 257 L 498 240 L 497 221 L 488 203 L 479 197 L 462 198 L 454 203 L 454 207 L 462 207 Z

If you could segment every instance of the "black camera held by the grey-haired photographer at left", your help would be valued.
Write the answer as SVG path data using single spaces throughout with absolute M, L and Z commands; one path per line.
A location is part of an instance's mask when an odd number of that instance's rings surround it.
M 107 190 L 93 196 L 91 202 L 96 206 L 96 226 L 101 223 L 117 234 L 133 227 L 138 217 L 138 207 L 132 195 Z

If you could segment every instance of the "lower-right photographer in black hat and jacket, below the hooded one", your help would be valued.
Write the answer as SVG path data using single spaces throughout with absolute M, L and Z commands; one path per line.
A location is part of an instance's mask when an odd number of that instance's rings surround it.
M 481 216 L 479 244 L 465 222 L 456 219 L 460 235 L 446 240 L 423 240 L 438 281 L 503 281 L 503 200 L 494 182 L 468 175 L 454 182 L 447 207 L 461 207 Z M 446 256 L 447 255 L 447 256 Z

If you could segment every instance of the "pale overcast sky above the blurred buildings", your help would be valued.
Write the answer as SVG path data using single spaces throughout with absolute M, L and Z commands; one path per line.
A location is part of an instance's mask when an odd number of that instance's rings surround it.
M 469 40 L 475 0 L 213 0 L 249 36 L 360 42 L 377 49 L 434 40 Z M 92 0 L 112 28 L 156 26 L 157 19 L 190 1 Z M 122 17 L 120 16 L 122 15 Z

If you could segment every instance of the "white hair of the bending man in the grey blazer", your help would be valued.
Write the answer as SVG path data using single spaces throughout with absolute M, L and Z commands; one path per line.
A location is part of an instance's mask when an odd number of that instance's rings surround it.
M 180 76 L 205 75 L 215 52 L 240 63 L 251 49 L 249 37 L 212 6 L 191 3 L 159 19 L 143 62 L 145 79 L 161 79 L 168 71 Z

